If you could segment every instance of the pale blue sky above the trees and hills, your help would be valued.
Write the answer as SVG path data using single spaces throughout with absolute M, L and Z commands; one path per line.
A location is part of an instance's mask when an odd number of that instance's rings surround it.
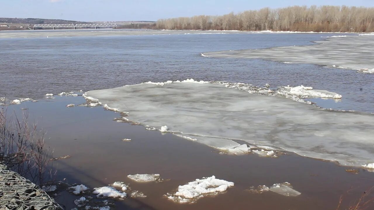
M 293 5 L 374 7 L 374 0 L 0 0 L 1 18 L 157 21 Z

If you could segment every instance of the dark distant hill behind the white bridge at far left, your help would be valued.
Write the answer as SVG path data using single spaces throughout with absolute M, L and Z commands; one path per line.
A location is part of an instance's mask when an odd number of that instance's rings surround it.
M 0 18 L 1 23 L 7 24 L 81 24 L 91 23 L 82 21 L 67 21 L 61 19 L 41 19 L 41 18 Z

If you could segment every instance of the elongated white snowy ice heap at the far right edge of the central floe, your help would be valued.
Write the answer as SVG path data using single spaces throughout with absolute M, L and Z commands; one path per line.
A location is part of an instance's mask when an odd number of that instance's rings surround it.
M 334 98 L 340 99 L 341 95 L 327 90 L 315 90 L 313 87 L 296 86 L 284 86 L 280 87 L 278 93 L 281 95 L 298 96 L 300 98 Z

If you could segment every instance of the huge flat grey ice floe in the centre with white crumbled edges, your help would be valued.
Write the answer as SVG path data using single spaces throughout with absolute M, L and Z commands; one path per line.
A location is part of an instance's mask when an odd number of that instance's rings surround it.
M 111 109 L 126 112 L 126 121 L 162 131 L 167 125 L 166 130 L 174 135 L 227 153 L 275 157 L 277 151 L 290 151 L 342 165 L 373 163 L 374 115 L 295 102 L 306 96 L 341 97 L 301 86 L 270 90 L 192 80 L 86 93 Z

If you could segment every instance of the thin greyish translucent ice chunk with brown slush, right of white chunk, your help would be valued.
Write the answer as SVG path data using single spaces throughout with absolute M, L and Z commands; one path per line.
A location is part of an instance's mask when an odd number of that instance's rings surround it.
M 273 184 L 270 187 L 267 187 L 266 185 L 260 185 L 257 188 L 254 186 L 251 186 L 248 191 L 252 193 L 259 193 L 259 194 L 263 192 L 271 191 L 271 192 L 278 193 L 280 195 L 291 196 L 291 197 L 298 196 L 301 194 L 300 192 L 294 190 L 292 185 L 288 182 Z

